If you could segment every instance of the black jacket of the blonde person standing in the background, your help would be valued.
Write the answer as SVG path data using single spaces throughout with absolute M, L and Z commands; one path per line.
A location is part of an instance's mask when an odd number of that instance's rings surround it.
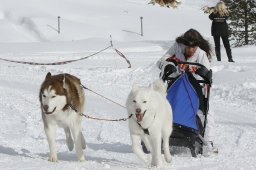
M 212 20 L 212 36 L 228 36 L 227 16 L 211 13 L 209 18 Z

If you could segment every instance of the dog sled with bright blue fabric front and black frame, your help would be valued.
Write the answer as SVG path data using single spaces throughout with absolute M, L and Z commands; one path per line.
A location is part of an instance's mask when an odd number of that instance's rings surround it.
M 171 77 L 181 64 L 196 66 L 197 69 L 194 72 L 187 69 L 178 77 Z M 209 111 L 212 71 L 198 63 L 173 61 L 165 67 L 162 79 L 167 82 L 167 99 L 173 111 L 173 132 L 169 144 L 189 148 L 191 155 L 197 157 L 203 153 L 203 146 L 206 145 L 204 133 Z M 142 147 L 147 153 L 146 147 Z

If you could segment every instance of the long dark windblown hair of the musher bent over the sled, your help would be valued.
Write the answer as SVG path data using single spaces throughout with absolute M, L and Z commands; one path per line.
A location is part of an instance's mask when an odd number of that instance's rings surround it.
M 195 29 L 189 29 L 182 36 L 176 38 L 176 42 L 190 47 L 198 46 L 205 51 L 208 59 L 211 59 L 211 46 L 209 42 Z

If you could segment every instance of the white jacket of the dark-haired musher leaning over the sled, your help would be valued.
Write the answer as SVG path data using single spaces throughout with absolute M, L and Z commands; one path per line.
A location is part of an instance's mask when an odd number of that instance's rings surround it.
M 175 57 L 179 61 L 200 63 L 204 65 L 208 70 L 210 69 L 210 62 L 205 51 L 198 47 L 195 54 L 186 60 L 184 56 L 185 47 L 185 45 L 175 42 L 173 46 L 165 53 L 165 55 L 157 61 L 158 68 L 163 69 L 163 67 L 168 64 L 168 61 L 166 60 L 170 57 Z

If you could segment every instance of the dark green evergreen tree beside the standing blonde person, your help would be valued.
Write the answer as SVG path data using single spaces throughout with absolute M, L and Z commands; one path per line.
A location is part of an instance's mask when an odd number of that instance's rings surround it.
M 225 0 L 229 9 L 230 40 L 234 46 L 256 44 L 256 1 Z

